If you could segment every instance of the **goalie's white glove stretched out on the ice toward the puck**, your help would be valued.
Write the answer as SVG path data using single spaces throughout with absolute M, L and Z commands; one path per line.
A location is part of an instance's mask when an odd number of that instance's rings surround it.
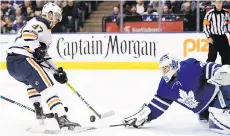
M 142 127 L 146 122 L 149 122 L 148 115 L 151 113 L 150 108 L 144 104 L 141 109 L 134 113 L 133 115 L 123 119 L 123 123 L 127 126 L 132 126 L 135 128 Z

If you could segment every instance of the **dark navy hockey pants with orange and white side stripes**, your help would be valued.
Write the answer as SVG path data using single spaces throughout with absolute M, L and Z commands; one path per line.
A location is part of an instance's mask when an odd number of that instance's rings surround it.
M 23 55 L 8 55 L 7 70 L 16 80 L 31 85 L 39 93 L 53 85 L 43 68 L 32 58 Z

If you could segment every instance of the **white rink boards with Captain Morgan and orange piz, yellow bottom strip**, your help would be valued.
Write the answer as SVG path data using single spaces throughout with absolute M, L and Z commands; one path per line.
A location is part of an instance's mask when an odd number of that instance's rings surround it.
M 1 63 L 12 38 L 2 35 Z M 166 53 L 206 62 L 209 47 L 203 33 L 54 34 L 52 41 L 48 53 L 68 69 L 158 69 Z

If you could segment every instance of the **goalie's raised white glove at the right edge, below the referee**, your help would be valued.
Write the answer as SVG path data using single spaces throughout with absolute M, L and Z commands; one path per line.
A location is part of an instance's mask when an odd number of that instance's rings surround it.
M 230 65 L 223 65 L 218 68 L 208 83 L 217 86 L 230 85 Z

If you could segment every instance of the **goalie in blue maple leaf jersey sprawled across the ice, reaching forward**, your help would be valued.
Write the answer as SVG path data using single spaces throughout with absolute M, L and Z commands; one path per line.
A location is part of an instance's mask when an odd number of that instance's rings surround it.
M 202 63 L 189 58 L 179 61 L 166 54 L 160 58 L 163 77 L 153 99 L 123 122 L 140 128 L 161 116 L 177 102 L 183 107 L 201 114 L 209 110 L 211 130 L 230 134 L 230 66 Z

